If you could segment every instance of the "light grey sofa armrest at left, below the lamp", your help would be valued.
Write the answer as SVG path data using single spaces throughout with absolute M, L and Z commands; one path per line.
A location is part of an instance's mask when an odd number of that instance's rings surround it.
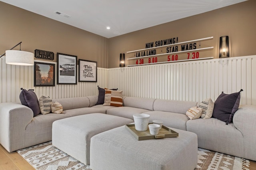
M 8 152 L 25 147 L 25 129 L 33 115 L 19 103 L 0 103 L 0 143 Z

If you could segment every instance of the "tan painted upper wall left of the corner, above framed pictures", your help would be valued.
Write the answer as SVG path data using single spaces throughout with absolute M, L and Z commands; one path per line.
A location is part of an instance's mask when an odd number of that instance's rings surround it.
M 108 67 L 107 38 L 4 2 L 0 2 L 0 23 L 0 55 L 22 42 L 24 51 L 34 53 L 35 49 L 41 49 L 54 52 L 55 62 L 58 52 L 97 61 L 98 67 Z

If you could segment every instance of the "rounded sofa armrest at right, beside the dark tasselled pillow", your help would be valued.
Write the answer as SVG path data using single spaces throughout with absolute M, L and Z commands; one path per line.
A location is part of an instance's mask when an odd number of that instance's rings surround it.
M 233 123 L 244 138 L 244 158 L 256 160 L 256 106 L 240 106 L 234 114 Z

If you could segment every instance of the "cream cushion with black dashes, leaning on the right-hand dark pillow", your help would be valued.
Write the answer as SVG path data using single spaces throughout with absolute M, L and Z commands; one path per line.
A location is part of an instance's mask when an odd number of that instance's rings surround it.
M 199 103 L 198 107 L 202 108 L 201 118 L 209 119 L 212 117 L 214 102 L 212 101 L 211 98 L 204 99 L 201 103 Z

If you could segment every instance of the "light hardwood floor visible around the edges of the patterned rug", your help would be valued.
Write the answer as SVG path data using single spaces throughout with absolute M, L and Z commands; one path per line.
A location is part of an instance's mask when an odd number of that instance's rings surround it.
M 17 152 L 9 153 L 0 144 L 0 170 L 35 170 Z M 256 170 L 256 162 L 250 160 L 250 170 Z

